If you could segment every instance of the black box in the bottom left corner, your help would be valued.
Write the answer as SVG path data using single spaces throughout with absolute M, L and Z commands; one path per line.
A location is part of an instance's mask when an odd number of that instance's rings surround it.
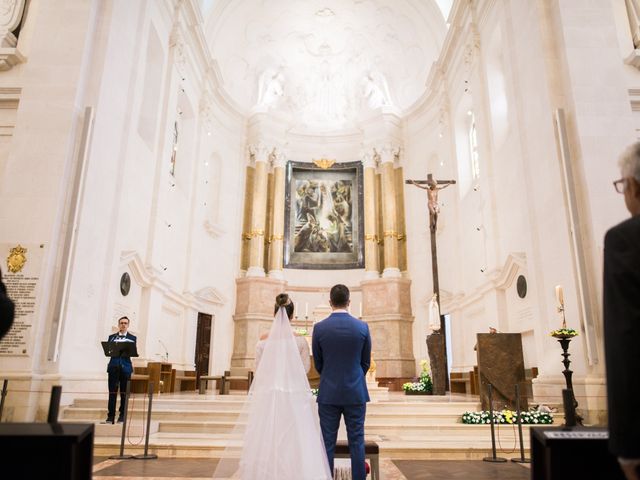
M 91 480 L 93 435 L 92 423 L 0 423 L 0 452 L 11 462 L 2 468 L 12 479 Z

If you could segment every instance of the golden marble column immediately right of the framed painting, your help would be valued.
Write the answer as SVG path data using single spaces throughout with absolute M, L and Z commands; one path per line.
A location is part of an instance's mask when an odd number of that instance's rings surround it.
M 364 278 L 380 276 L 378 265 L 378 231 L 376 218 L 376 160 L 372 153 L 365 153 L 364 166 Z

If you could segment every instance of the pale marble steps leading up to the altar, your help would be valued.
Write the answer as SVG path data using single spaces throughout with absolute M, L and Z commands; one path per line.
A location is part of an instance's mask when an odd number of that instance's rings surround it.
M 491 454 L 489 425 L 465 425 L 465 411 L 480 410 L 477 395 L 446 394 L 442 396 L 407 396 L 403 392 L 371 389 L 372 401 L 367 406 L 365 435 L 378 443 L 381 458 L 423 460 L 470 460 Z M 146 402 L 136 395 L 130 406 L 125 451 L 139 454 L 144 447 L 143 419 Z M 161 457 L 219 456 L 229 443 L 246 392 L 232 391 L 219 395 L 176 392 L 161 394 L 153 400 L 149 451 Z M 119 450 L 121 425 L 101 424 L 106 418 L 107 397 L 76 398 L 61 412 L 61 421 L 96 424 L 94 455 L 106 457 Z M 558 419 L 557 423 L 561 423 Z M 499 456 L 516 457 L 517 428 L 496 426 Z M 529 451 L 529 429 L 523 426 L 526 454 Z M 341 427 L 340 439 L 346 439 Z

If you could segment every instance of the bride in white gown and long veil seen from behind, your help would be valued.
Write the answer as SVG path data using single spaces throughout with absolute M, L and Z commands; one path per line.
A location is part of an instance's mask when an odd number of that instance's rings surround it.
M 256 346 L 256 373 L 241 415 L 213 478 L 331 480 L 316 404 L 306 371 L 309 346 L 295 336 L 294 305 L 276 297 L 269 335 Z M 244 432 L 242 432 L 244 430 Z

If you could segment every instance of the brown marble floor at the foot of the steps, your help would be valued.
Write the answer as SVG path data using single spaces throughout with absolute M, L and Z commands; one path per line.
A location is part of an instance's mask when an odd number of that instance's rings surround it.
M 217 460 L 158 458 L 109 460 L 95 458 L 94 480 L 210 480 Z M 478 460 L 380 460 L 381 480 L 526 480 L 530 465 L 486 463 Z

